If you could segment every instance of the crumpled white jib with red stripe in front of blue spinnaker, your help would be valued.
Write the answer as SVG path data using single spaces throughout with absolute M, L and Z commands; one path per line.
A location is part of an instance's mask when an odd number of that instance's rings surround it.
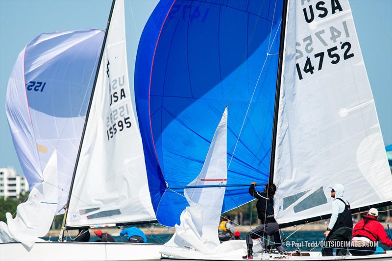
M 201 172 L 188 186 L 225 185 L 227 141 L 227 108 L 215 131 Z M 161 253 L 172 255 L 172 248 L 194 248 L 202 254 L 213 254 L 221 245 L 217 227 L 221 217 L 225 188 L 185 189 L 189 207 L 180 216 L 173 237 L 164 245 Z M 174 250 L 176 251 L 176 250 Z

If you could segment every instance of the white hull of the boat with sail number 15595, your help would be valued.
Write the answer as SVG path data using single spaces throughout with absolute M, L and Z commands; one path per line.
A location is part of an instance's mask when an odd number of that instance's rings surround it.
M 21 243 L 1 243 L 1 261 L 157 261 L 159 244 L 100 242 L 37 242 L 26 250 Z

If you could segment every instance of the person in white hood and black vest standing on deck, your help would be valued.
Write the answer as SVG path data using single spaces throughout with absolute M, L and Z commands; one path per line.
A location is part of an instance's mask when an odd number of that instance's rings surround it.
M 332 256 L 333 248 L 336 249 L 337 256 L 347 253 L 347 247 L 352 233 L 352 218 L 350 204 L 343 198 L 344 187 L 342 184 L 335 184 L 331 188 L 332 214 L 324 236 L 324 248 L 321 249 L 323 256 Z

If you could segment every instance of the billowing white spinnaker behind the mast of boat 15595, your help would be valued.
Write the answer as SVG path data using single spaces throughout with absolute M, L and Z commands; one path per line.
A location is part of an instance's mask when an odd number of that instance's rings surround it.
M 41 34 L 21 51 L 8 81 L 7 119 L 30 190 L 57 148 L 58 211 L 68 198 L 102 39 L 100 30 Z

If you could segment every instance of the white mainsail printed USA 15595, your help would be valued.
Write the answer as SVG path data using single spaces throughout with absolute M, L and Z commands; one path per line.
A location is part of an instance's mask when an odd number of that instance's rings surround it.
M 114 6 L 81 146 L 67 226 L 156 219 L 128 84 L 123 0 Z

